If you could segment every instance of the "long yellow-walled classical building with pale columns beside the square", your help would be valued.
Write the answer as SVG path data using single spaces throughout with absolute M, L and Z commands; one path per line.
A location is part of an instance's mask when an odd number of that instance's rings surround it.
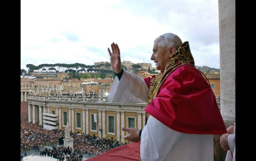
M 27 98 L 29 122 L 39 122 L 46 129 L 62 129 L 66 122 L 73 132 L 125 142 L 122 127 L 143 128 L 146 104 L 109 103 L 107 98 L 32 96 Z M 69 101 L 67 101 L 69 100 Z M 50 119 L 49 119 L 50 118 Z M 126 140 L 127 141 L 127 140 Z

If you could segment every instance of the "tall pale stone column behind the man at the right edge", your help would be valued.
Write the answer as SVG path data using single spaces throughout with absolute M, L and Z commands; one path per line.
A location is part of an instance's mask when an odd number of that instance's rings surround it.
M 235 1 L 219 0 L 220 112 L 229 127 L 235 122 Z

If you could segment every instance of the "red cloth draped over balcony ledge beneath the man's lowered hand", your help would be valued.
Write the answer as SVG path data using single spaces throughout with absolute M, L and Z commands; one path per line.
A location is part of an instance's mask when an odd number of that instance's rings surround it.
M 86 161 L 138 161 L 140 160 L 140 141 L 119 146 L 108 152 L 87 159 Z

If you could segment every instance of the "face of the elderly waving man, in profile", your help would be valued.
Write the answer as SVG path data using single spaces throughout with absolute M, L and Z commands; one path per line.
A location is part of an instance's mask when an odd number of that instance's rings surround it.
M 156 63 L 157 70 L 163 71 L 171 57 L 171 53 L 168 48 L 158 46 L 158 43 L 159 41 L 154 44 L 151 60 Z

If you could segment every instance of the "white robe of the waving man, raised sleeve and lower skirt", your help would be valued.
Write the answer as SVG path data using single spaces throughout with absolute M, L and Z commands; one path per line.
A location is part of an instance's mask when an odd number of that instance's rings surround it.
M 116 77 L 109 102 L 146 103 L 148 87 L 139 76 L 124 70 Z M 213 161 L 213 135 L 186 134 L 175 131 L 149 117 L 141 133 L 142 161 Z

